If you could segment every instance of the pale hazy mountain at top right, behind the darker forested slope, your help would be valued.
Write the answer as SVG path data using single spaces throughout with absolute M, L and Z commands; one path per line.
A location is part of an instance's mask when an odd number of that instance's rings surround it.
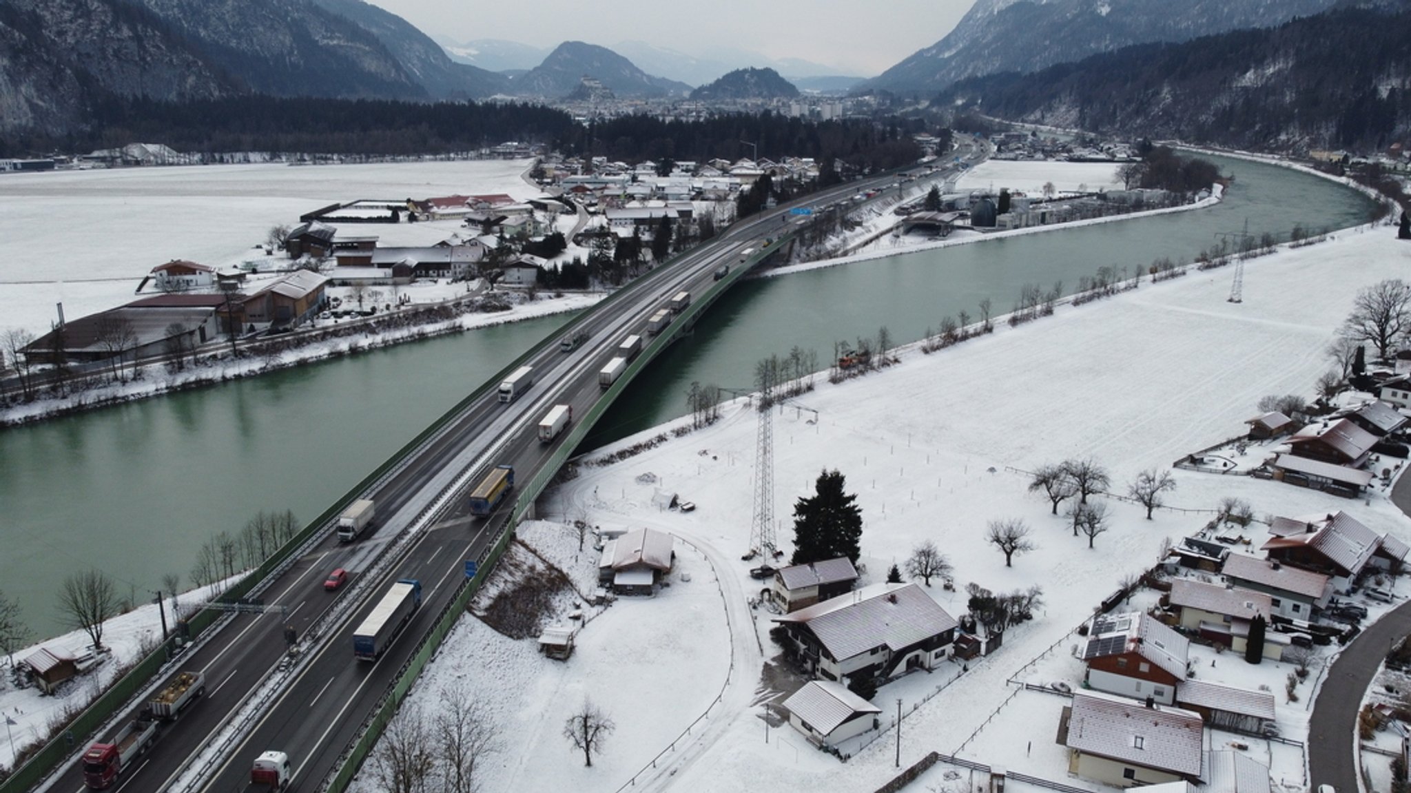
M 976 0 L 945 38 L 858 90 L 935 92 L 962 78 L 1033 72 L 1132 44 L 1277 25 L 1336 1 Z

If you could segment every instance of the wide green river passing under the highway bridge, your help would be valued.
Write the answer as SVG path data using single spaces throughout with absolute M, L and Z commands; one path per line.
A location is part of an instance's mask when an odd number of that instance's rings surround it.
M 684 412 L 691 381 L 746 388 L 755 361 L 792 346 L 820 361 L 835 340 L 886 325 L 910 341 L 943 316 L 1007 312 L 1023 284 L 1072 289 L 1099 267 L 1195 257 L 1218 233 L 1339 229 L 1370 202 L 1291 169 L 1218 158 L 1236 176 L 1211 209 L 913 253 L 746 281 L 691 337 L 634 382 L 590 444 Z M 1229 271 L 1208 275 L 1230 278 Z M 306 521 L 492 373 L 560 327 L 553 316 L 285 370 L 0 432 L 4 553 L 0 591 L 37 636 L 66 626 L 62 579 L 96 567 L 150 601 L 164 574 L 185 580 L 198 549 L 261 509 Z

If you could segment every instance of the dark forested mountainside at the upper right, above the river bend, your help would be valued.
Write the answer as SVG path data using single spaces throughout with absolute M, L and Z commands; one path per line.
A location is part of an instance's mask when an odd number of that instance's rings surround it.
M 1274 151 L 1411 143 L 1411 10 L 1143 44 L 955 83 L 934 104 L 1016 121 Z M 1356 56 L 1349 54 L 1356 52 Z

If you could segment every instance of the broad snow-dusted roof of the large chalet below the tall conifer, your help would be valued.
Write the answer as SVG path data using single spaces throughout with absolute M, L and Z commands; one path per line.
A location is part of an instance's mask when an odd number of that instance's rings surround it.
M 883 645 L 897 650 L 959 625 L 917 584 L 872 584 L 773 621 L 807 625 L 835 660 Z

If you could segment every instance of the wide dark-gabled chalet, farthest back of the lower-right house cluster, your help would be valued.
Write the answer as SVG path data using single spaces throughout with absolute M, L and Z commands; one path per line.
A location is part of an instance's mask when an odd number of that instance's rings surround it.
M 1270 559 L 1325 573 L 1346 588 L 1367 570 L 1400 570 L 1411 549 L 1377 533 L 1346 512 L 1311 518 L 1274 518 L 1260 550 Z

